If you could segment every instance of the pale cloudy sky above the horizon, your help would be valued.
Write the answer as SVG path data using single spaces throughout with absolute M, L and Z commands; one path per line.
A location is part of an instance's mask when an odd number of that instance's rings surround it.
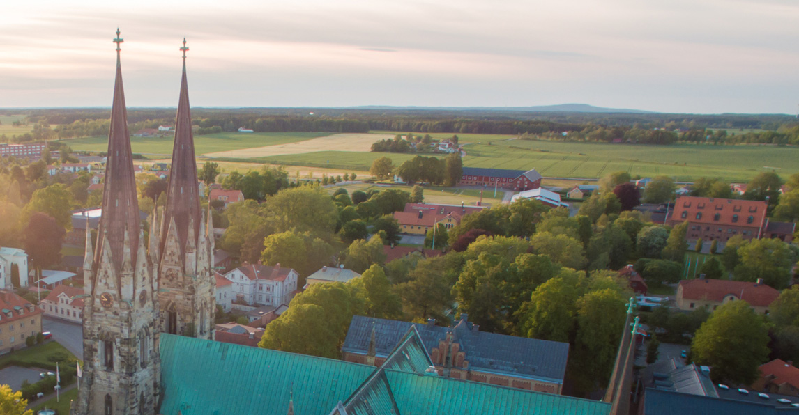
M 527 106 L 797 113 L 796 0 L 27 0 L 0 108 Z

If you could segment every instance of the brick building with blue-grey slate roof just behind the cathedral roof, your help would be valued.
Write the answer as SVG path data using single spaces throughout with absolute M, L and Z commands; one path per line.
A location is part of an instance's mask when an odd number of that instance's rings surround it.
M 421 324 L 356 315 L 341 348 L 343 358 L 379 366 L 411 329 L 418 331 L 439 375 L 561 393 L 568 343 L 483 332 L 468 321 L 467 314 L 461 314 L 454 327 L 435 326 L 432 320 Z

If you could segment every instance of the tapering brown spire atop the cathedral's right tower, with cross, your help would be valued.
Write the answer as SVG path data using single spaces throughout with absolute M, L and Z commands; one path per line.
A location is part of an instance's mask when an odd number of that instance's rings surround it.
M 197 188 L 197 160 L 194 158 L 194 137 L 192 134 L 192 114 L 189 109 L 189 84 L 186 81 L 186 40 L 183 39 L 183 76 L 181 79 L 181 95 L 177 104 L 177 121 L 175 123 L 175 142 L 172 148 L 172 170 L 166 188 L 166 207 L 164 222 L 175 221 L 178 245 L 181 257 L 185 255 L 185 247 L 189 234 L 197 238 L 200 235 L 200 196 Z M 193 227 L 189 232 L 189 226 Z M 167 229 L 161 228 L 159 251 L 164 254 L 164 246 L 168 236 Z M 197 246 L 197 241 L 192 241 Z

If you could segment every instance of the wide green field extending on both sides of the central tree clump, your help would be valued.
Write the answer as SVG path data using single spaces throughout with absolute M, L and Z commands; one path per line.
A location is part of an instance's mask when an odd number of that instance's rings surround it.
M 671 176 L 694 180 L 701 176 L 747 181 L 758 172 L 774 170 L 784 178 L 799 172 L 799 148 L 715 146 L 696 144 L 635 145 L 504 140 L 467 144 L 466 167 L 535 168 L 547 177 L 596 179 L 624 170 L 633 176 Z M 372 160 L 388 156 L 402 164 L 414 154 L 378 152 L 312 152 L 256 159 L 260 162 L 367 170 Z

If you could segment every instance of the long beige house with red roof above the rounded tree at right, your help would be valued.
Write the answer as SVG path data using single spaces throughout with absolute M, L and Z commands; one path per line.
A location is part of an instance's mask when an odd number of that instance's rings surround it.
M 677 307 L 680 310 L 696 310 L 708 307 L 716 310 L 726 302 L 744 300 L 760 314 L 769 314 L 769 306 L 780 291 L 757 279 L 757 283 L 730 281 L 729 279 L 683 279 L 677 287 Z

